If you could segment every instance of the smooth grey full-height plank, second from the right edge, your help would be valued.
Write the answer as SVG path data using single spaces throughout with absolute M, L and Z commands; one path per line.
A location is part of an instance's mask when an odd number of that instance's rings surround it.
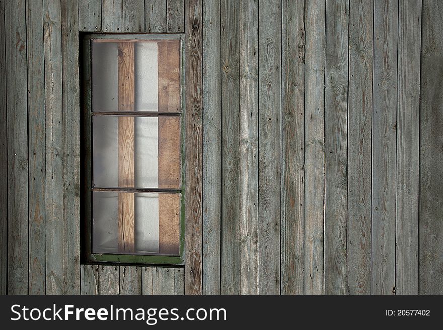
M 418 294 L 421 0 L 399 2 L 396 293 Z

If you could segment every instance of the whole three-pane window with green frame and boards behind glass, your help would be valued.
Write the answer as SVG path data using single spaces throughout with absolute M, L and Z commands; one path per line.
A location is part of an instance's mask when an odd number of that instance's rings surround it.
M 86 261 L 182 263 L 180 38 L 84 40 Z

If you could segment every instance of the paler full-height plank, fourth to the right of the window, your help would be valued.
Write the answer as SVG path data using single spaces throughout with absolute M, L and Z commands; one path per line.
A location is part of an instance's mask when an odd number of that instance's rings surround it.
M 239 6 L 239 293 L 257 294 L 259 4 Z

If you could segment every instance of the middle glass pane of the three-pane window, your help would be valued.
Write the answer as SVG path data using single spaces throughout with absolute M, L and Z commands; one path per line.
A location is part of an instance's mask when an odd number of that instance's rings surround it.
M 180 117 L 93 117 L 95 187 L 181 187 Z

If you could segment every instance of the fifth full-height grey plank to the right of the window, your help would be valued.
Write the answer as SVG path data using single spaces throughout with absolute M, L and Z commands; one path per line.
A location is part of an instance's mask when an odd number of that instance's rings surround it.
M 280 293 L 281 6 L 260 3 L 258 293 Z

